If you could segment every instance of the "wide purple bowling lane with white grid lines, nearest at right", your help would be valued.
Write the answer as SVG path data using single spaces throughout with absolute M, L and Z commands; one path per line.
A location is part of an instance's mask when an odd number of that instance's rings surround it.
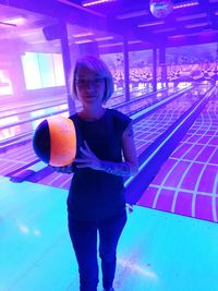
M 164 163 L 138 205 L 218 222 L 218 94 Z

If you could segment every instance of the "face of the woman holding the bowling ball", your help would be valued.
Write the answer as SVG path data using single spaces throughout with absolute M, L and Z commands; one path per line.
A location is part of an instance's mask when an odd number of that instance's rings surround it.
M 75 75 L 78 100 L 84 106 L 101 105 L 105 93 L 105 80 L 88 68 L 80 68 Z

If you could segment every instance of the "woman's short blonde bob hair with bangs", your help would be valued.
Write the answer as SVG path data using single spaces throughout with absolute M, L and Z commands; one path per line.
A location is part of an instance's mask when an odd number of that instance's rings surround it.
M 76 86 L 75 86 L 75 78 L 78 69 L 81 68 L 87 68 L 92 72 L 96 73 L 98 76 L 102 77 L 105 80 L 105 93 L 102 97 L 102 104 L 106 104 L 107 100 L 111 97 L 113 94 L 113 78 L 110 70 L 106 65 L 106 63 L 96 57 L 93 56 L 86 56 L 81 59 L 77 59 L 74 70 L 71 73 L 71 93 L 73 96 L 77 98 L 77 92 L 76 92 Z

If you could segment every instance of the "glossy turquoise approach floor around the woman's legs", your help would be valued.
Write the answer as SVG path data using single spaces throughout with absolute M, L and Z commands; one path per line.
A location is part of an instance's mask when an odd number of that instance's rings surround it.
M 66 191 L 3 177 L 0 183 L 0 291 L 77 291 Z M 217 223 L 134 207 L 119 244 L 114 288 L 217 291 Z

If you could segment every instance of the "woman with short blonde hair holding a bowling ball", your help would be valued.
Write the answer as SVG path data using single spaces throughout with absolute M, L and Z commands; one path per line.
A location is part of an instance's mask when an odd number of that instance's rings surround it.
M 97 291 L 97 233 L 104 290 L 113 291 L 117 245 L 126 222 L 123 177 L 138 171 L 131 119 L 104 105 L 113 93 L 113 80 L 102 60 L 78 59 L 72 77 L 81 112 L 70 117 L 81 143 L 68 167 L 74 172 L 68 197 L 69 232 L 78 263 L 80 290 Z

